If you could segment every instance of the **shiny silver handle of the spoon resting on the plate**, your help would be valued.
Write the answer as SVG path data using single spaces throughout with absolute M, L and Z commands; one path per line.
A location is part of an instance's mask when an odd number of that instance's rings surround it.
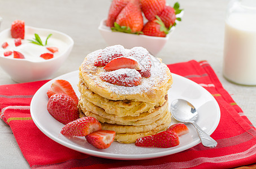
M 212 137 L 206 134 L 206 132 L 203 131 L 202 128 L 200 128 L 196 122 L 192 122 L 192 124 L 196 128 L 203 146 L 214 148 L 218 144 L 217 141 L 215 141 L 214 139 L 212 139 Z

